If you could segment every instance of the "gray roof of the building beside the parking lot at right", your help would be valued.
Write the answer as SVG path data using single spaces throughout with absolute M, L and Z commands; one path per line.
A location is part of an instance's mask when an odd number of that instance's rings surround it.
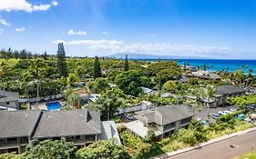
M 236 94 L 243 92 L 246 92 L 246 90 L 237 85 L 221 85 L 217 87 L 216 94 Z

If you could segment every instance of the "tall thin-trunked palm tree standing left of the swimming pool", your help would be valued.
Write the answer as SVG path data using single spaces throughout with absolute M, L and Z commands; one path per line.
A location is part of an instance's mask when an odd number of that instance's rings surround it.
M 38 108 L 38 100 L 39 100 L 39 80 L 40 80 L 40 74 L 44 70 L 43 62 L 41 59 L 31 60 L 30 61 L 30 70 L 32 72 L 32 75 L 36 77 L 36 108 Z

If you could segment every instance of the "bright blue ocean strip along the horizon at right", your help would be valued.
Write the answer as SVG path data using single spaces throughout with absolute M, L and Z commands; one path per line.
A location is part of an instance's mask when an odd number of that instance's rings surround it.
M 159 59 L 139 59 L 139 61 L 158 61 Z M 248 70 L 252 69 L 252 75 L 256 75 L 256 60 L 220 60 L 220 59 L 161 59 L 175 60 L 179 65 L 189 64 L 189 66 L 194 66 L 196 68 L 202 68 L 206 65 L 208 71 L 229 71 L 234 72 L 237 69 L 241 69 L 244 74 L 248 74 Z

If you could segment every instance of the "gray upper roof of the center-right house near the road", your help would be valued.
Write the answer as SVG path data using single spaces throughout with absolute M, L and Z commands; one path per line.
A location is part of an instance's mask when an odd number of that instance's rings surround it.
M 147 123 L 160 125 L 173 123 L 195 115 L 193 110 L 185 104 L 160 106 L 137 114 L 135 117 L 142 122 L 147 121 Z

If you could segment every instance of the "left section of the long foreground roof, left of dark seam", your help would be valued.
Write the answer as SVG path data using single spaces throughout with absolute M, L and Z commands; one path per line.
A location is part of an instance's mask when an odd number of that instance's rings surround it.
M 29 111 L 0 111 L 0 138 L 30 136 L 41 112 Z

